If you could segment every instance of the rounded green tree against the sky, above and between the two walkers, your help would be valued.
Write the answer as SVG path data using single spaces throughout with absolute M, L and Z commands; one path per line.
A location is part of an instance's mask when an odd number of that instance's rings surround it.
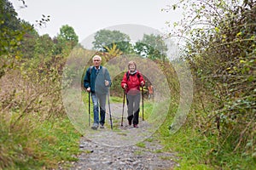
M 92 44 L 96 50 L 107 52 L 108 49 L 113 48 L 113 44 L 116 44 L 116 48 L 123 53 L 132 52 L 131 38 L 120 31 L 100 30 L 96 32 L 94 38 Z

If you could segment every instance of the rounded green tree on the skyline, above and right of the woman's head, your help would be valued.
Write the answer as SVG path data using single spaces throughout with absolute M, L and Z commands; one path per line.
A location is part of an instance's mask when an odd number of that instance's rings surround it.
M 166 59 L 167 46 L 160 35 L 144 34 L 143 40 L 136 42 L 134 50 L 148 59 Z

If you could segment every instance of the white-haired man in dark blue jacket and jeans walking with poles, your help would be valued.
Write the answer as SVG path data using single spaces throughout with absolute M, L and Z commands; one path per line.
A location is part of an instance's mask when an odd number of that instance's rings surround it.
M 87 69 L 84 76 L 84 88 L 86 88 L 87 92 L 91 94 L 94 117 L 94 122 L 91 128 L 96 130 L 99 126 L 100 128 L 104 128 L 106 116 L 106 98 L 108 88 L 111 85 L 111 78 L 109 76 L 108 69 L 101 65 L 102 57 L 95 55 L 92 58 L 92 61 L 94 65 Z M 101 116 L 100 120 L 99 106 Z

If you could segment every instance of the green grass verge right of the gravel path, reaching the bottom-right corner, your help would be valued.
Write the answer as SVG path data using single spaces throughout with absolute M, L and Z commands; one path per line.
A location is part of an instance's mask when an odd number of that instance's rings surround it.
M 220 149 L 218 136 L 203 134 L 196 128 L 190 127 L 189 124 L 184 124 L 177 133 L 171 134 L 168 126 L 172 122 L 172 113 L 175 113 L 174 109 L 170 111 L 170 116 L 167 116 L 166 122 L 162 124 L 154 137 L 160 139 L 161 144 L 165 146 L 164 150 L 177 153 L 180 166 L 175 169 L 246 170 L 256 167 L 256 161 L 253 161 L 252 157 L 236 154 L 233 149 L 230 150 L 230 146 Z

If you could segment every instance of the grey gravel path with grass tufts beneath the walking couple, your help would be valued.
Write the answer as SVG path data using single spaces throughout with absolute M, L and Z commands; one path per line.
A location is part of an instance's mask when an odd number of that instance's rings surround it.
M 173 153 L 162 151 L 163 146 L 151 137 L 154 126 L 140 120 L 139 128 L 129 126 L 126 120 L 120 126 L 122 105 L 111 105 L 113 130 L 109 122 L 104 129 L 88 128 L 80 140 L 79 161 L 72 170 L 143 170 L 173 169 L 179 166 Z M 106 116 L 109 120 L 109 114 Z

